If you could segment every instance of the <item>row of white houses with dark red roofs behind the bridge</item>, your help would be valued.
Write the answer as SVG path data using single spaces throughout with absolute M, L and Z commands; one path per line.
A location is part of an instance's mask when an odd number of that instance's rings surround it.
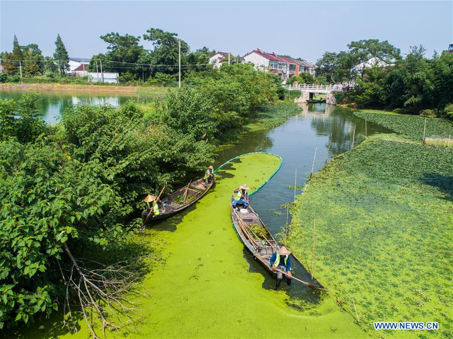
M 277 74 L 283 80 L 293 75 L 297 76 L 301 72 L 315 74 L 315 65 L 308 61 L 277 55 L 275 52 L 263 52 L 259 48 L 247 53 L 242 59 L 244 63 L 251 62 L 255 65 L 256 69 Z

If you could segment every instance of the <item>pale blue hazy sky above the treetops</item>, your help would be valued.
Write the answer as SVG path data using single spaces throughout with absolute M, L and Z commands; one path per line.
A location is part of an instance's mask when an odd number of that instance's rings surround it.
M 37 43 L 44 55 L 60 34 L 69 56 L 105 52 L 109 32 L 142 36 L 176 32 L 191 49 L 245 53 L 261 48 L 316 61 L 325 51 L 377 38 L 403 53 L 422 44 L 431 56 L 453 41 L 452 1 L 5 1 L 0 0 L 0 50 Z M 145 48 L 152 48 L 143 42 Z

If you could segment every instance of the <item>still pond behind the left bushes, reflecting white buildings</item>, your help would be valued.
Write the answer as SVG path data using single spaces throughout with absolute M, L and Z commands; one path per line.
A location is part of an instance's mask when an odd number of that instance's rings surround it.
M 18 100 L 24 93 L 39 93 L 41 98 L 38 102 L 39 110 L 42 112 L 42 118 L 48 124 L 55 124 L 61 113 L 71 105 L 87 104 L 102 105 L 109 104 L 113 107 L 119 107 L 128 100 L 137 100 L 140 102 L 153 101 L 156 96 L 142 95 L 134 92 L 129 93 L 105 93 L 100 92 L 93 94 L 85 91 L 22 91 L 2 89 L 0 99 Z

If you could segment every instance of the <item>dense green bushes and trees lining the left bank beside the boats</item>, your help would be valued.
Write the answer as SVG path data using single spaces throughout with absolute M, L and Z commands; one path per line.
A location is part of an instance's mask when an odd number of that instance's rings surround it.
M 127 248 L 139 221 L 125 223 L 142 207 L 142 198 L 157 195 L 166 184 L 171 189 L 188 172 L 204 170 L 219 140 L 241 131 L 259 107 L 276 102 L 280 88 L 274 75 L 249 65 L 225 65 L 209 76 L 192 76 L 157 103 L 128 102 L 120 109 L 76 105 L 54 126 L 39 119 L 36 95 L 0 101 L 0 242 L 5 258 L 0 327 L 66 312 L 67 303 L 80 305 L 76 286 L 70 285 L 66 294 L 64 282 L 71 272 L 88 286 L 84 315 L 102 319 L 97 307 L 102 298 L 97 297 L 104 287 L 90 280 L 100 268 L 77 258 L 114 265 L 99 253 Z M 85 278 L 74 267 L 87 273 Z M 111 285 L 120 289 L 104 292 L 124 293 L 138 279 L 140 267 L 137 263 L 127 279 Z

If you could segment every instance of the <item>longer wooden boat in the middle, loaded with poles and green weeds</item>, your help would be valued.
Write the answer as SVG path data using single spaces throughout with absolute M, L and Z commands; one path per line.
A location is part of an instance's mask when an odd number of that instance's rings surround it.
M 230 207 L 233 227 L 235 228 L 236 234 L 238 234 L 238 237 L 241 239 L 242 243 L 266 268 L 266 270 L 268 270 L 272 274 L 275 274 L 275 272 L 272 271 L 272 268 L 269 265 L 269 260 L 275 251 L 280 250 L 281 246 L 278 241 L 275 240 L 269 229 L 260 219 L 252 206 L 250 206 L 250 204 L 247 207 L 248 213 L 241 213 L 240 211 L 236 210 L 233 205 L 230 205 Z M 291 256 L 297 262 L 299 262 L 301 266 L 304 267 L 304 265 L 302 265 L 300 261 L 296 257 L 294 257 L 294 255 L 291 254 Z M 310 288 L 325 290 L 325 288 L 321 284 L 321 286 L 318 287 L 311 283 L 301 281 L 295 277 L 293 278 L 301 283 L 304 283 Z

